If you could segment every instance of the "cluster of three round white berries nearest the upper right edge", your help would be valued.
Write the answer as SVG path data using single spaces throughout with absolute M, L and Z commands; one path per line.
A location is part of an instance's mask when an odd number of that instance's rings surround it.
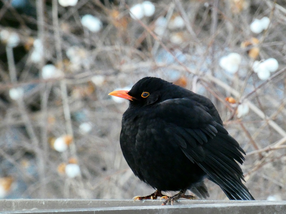
M 257 73 L 258 78 L 266 80 L 270 77 L 270 72 L 274 72 L 278 69 L 278 62 L 275 58 L 269 58 L 263 62 L 255 61 L 252 69 Z

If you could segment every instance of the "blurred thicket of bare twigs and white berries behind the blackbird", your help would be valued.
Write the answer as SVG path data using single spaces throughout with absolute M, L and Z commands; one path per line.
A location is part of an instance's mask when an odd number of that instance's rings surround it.
M 145 76 L 212 100 L 255 199 L 286 199 L 284 0 L 1 0 L 0 198 L 132 199 L 154 190 L 119 145 Z M 207 181 L 209 199 L 225 199 Z M 173 193 L 168 193 L 172 195 Z

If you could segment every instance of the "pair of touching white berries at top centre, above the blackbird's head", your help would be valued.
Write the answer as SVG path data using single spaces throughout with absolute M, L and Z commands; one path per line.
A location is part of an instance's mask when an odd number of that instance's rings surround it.
M 136 4 L 130 8 L 132 19 L 142 19 L 144 16 L 150 17 L 155 13 L 155 5 L 150 1 L 144 1 L 142 4 Z

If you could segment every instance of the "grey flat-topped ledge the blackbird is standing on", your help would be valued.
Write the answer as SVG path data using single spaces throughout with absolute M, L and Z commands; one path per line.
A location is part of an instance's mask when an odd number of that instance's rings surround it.
M 76 200 L 13 199 L 0 200 L 1 213 L 106 213 L 106 214 L 286 214 L 286 201 L 210 201 L 179 200 L 173 206 L 161 206 L 159 200 Z

